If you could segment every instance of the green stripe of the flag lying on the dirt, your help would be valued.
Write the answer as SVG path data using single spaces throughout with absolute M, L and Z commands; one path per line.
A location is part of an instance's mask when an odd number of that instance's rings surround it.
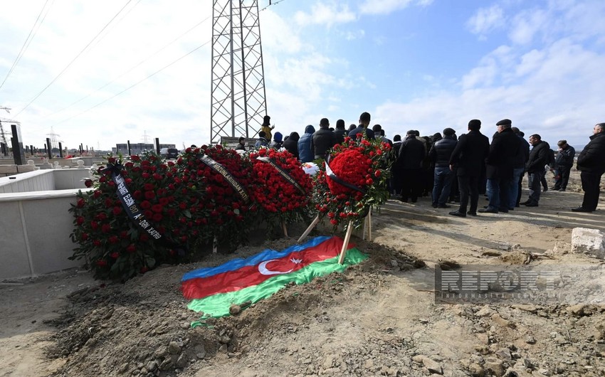
M 194 312 L 204 312 L 204 318 L 226 317 L 229 315 L 231 304 L 241 304 L 246 301 L 252 303 L 259 302 L 261 299 L 270 297 L 275 292 L 278 292 L 285 285 L 288 285 L 289 282 L 305 284 L 315 277 L 329 275 L 332 272 L 342 272 L 350 265 L 357 265 L 357 263 L 363 262 L 367 257 L 367 255 L 357 250 L 357 248 L 352 248 L 347 250 L 347 256 L 344 258 L 342 265 L 338 262 L 339 256 L 320 262 L 313 262 L 298 271 L 271 277 L 259 285 L 246 287 L 235 292 L 214 294 L 203 299 L 193 299 L 187 307 Z M 192 327 L 201 325 L 201 322 L 191 323 Z

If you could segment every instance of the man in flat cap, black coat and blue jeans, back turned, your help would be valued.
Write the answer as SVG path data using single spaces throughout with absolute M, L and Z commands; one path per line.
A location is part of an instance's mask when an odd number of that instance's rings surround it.
M 487 193 L 490 200 L 482 213 L 508 212 L 510 183 L 521 142 L 510 129 L 512 122 L 507 119 L 496 123 L 498 133 L 490 144 L 488 158 L 485 159 L 485 177 L 488 179 Z

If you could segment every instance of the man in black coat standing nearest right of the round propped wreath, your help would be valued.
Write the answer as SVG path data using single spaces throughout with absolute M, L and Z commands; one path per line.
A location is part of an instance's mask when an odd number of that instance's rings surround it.
M 396 161 L 398 171 L 398 182 L 396 187 L 401 187 L 401 201 L 416 203 L 422 188 L 422 160 L 426 155 L 424 144 L 416 139 L 414 130 L 408 131 L 406 139 L 401 143 L 399 156 Z

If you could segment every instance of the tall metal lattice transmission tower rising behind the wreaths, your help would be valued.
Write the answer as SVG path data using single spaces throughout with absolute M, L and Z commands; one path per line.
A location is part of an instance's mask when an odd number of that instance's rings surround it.
M 253 137 L 267 113 L 258 0 L 214 0 L 210 142 Z

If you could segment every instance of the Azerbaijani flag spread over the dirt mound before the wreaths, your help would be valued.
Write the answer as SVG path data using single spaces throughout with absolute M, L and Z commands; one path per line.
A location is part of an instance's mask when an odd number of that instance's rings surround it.
M 246 259 L 187 272 L 181 280 L 184 297 L 192 300 L 187 307 L 204 312 L 204 317 L 225 317 L 231 304 L 258 302 L 289 282 L 304 284 L 367 258 L 349 243 L 341 265 L 342 243 L 338 237 L 316 237 L 282 251 L 267 249 Z

